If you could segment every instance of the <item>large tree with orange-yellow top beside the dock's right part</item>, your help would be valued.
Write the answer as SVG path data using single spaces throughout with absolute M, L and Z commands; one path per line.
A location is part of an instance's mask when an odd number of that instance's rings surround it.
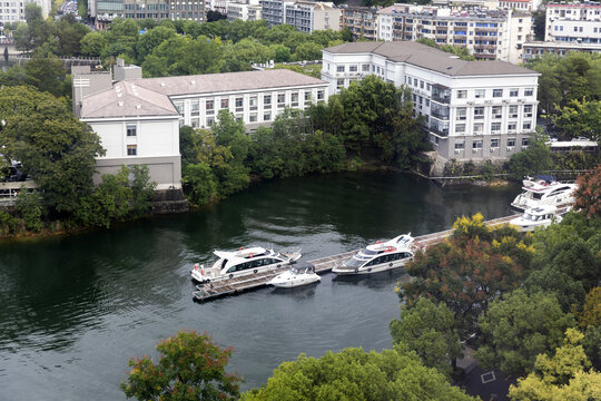
M 466 340 L 490 302 L 521 284 L 534 253 L 529 241 L 510 227 L 491 229 L 481 214 L 461 217 L 449 241 L 417 253 L 406 266 L 415 278 L 401 285 L 398 296 L 410 305 L 422 297 L 446 304 Z

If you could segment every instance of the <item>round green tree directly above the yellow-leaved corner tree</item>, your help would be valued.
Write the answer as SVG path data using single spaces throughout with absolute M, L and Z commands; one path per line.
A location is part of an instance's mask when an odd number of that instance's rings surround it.
M 494 301 L 479 323 L 483 333 L 483 344 L 475 353 L 479 362 L 522 375 L 532 371 L 538 354 L 559 346 L 564 331 L 575 322 L 552 294 L 528 295 L 516 290 Z

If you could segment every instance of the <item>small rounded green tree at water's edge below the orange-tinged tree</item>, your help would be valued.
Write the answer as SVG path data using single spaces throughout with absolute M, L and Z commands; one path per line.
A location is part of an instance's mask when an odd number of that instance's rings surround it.
M 401 320 L 391 321 L 393 342 L 415 351 L 424 365 L 451 374 L 451 361 L 461 354 L 453 312 L 445 304 L 421 299 L 401 307 Z

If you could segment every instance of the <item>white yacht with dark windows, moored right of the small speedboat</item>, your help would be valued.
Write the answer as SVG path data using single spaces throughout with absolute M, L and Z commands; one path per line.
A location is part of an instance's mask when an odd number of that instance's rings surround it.
M 386 242 L 378 241 L 367 245 L 332 271 L 338 275 L 347 275 L 370 274 L 403 267 L 407 262 L 413 261 L 413 242 L 411 233 Z

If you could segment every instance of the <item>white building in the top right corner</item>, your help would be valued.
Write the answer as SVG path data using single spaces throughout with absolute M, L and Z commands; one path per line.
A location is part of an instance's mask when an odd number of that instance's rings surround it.
M 601 43 L 601 4 L 546 4 L 544 41 Z

